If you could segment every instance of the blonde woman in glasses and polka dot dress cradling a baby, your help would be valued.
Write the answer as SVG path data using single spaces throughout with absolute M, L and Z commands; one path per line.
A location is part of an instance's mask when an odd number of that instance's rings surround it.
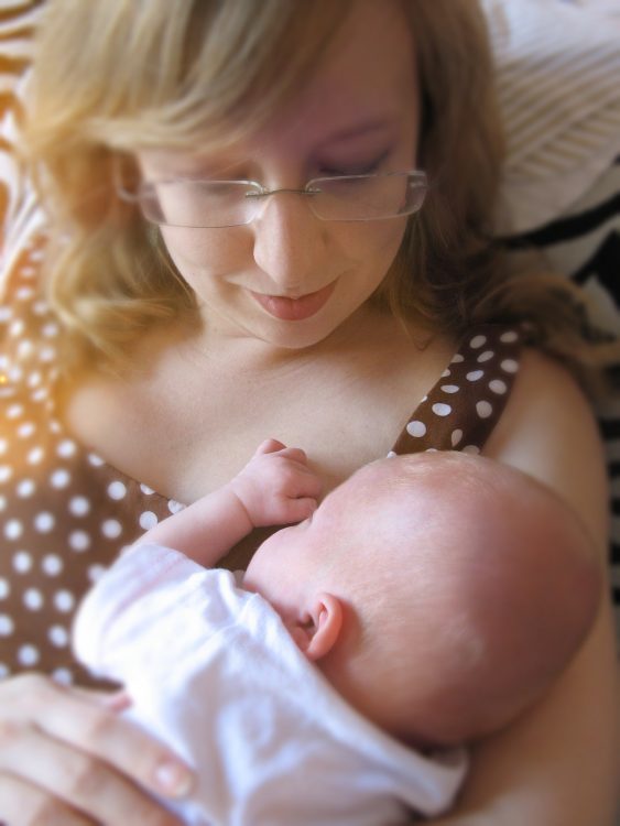
M 488 242 L 501 140 L 472 2 L 55 0 L 40 40 L 50 306 L 23 281 L 31 248 L 3 316 L 0 816 L 167 823 L 142 789 L 189 781 L 116 717 L 122 697 L 15 676 L 84 683 L 67 619 L 98 565 L 267 435 L 327 489 L 392 448 L 481 448 L 563 496 L 602 555 L 601 452 L 558 363 L 578 367 L 574 307 L 509 280 Z M 522 356 L 513 328 L 479 326 L 519 320 L 539 345 Z M 606 823 L 616 680 L 603 605 L 445 823 Z

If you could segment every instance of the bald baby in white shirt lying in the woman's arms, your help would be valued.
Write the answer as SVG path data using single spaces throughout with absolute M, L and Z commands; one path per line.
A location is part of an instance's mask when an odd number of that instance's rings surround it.
M 464 778 L 458 747 L 540 698 L 595 617 L 586 531 L 516 470 L 417 454 L 316 507 L 319 492 L 305 454 L 270 439 L 78 612 L 78 656 L 196 768 L 188 824 L 439 814 Z M 289 522 L 244 574 L 213 569 L 253 528 Z

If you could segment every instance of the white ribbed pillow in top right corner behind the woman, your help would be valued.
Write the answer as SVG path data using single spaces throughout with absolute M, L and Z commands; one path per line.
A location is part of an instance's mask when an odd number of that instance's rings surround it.
M 523 232 L 566 211 L 620 155 L 620 2 L 482 6 L 508 138 L 498 219 L 502 233 Z

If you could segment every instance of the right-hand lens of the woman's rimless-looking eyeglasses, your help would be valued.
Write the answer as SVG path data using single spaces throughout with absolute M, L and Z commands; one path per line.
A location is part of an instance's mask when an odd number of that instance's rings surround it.
M 423 172 L 385 175 L 349 175 L 311 181 L 309 204 L 318 218 L 331 221 L 368 221 L 411 215 L 426 195 Z

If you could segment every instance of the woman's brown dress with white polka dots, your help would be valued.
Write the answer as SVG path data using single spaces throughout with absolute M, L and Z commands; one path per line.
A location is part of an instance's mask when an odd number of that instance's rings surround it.
M 0 306 L 0 678 L 36 670 L 89 685 L 69 646 L 78 600 L 122 547 L 182 506 L 107 465 L 56 416 L 58 326 L 36 290 L 42 254 L 36 242 L 23 251 Z M 514 329 L 472 332 L 393 450 L 480 450 L 519 349 Z

